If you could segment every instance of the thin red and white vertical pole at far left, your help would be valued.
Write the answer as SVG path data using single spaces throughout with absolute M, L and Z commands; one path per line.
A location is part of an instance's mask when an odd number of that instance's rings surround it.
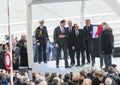
M 8 13 L 8 35 L 9 46 L 10 46 L 10 59 L 11 59 L 11 68 L 10 68 L 10 85 L 13 85 L 13 65 L 12 65 L 12 36 L 11 36 L 11 25 L 10 25 L 10 0 L 7 0 L 7 13 Z

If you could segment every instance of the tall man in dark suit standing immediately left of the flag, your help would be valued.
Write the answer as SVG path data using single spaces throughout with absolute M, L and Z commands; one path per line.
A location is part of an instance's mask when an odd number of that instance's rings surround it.
M 90 22 L 90 19 L 86 19 L 85 24 L 86 24 L 86 26 L 84 26 L 83 29 L 85 31 L 87 64 L 90 63 L 90 55 L 91 55 L 92 66 L 94 66 L 95 56 L 93 55 L 92 24 Z

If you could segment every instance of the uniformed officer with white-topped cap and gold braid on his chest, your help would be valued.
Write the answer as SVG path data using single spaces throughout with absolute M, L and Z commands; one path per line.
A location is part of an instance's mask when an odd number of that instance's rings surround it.
M 36 29 L 36 40 L 39 49 L 38 61 L 39 63 L 41 63 L 43 59 L 44 63 L 47 63 L 46 58 L 46 43 L 47 43 L 46 40 L 48 39 L 47 27 L 44 26 L 44 20 L 39 21 L 39 24 L 40 26 L 38 26 Z

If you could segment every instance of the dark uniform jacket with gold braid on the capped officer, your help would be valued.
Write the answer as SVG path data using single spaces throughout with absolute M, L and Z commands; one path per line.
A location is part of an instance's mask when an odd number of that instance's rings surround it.
M 46 40 L 48 38 L 47 27 L 43 26 L 42 28 L 39 26 L 36 29 L 35 38 L 41 44 L 46 44 Z M 37 42 L 37 43 L 38 43 Z

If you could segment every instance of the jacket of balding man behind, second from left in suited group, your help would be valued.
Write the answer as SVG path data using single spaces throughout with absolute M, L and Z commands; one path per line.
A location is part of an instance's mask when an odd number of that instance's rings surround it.
M 73 46 L 73 32 L 74 32 L 74 28 L 72 27 L 72 30 L 70 31 L 69 27 L 67 27 L 67 31 L 68 31 L 68 38 L 67 38 L 67 44 L 68 47 Z

